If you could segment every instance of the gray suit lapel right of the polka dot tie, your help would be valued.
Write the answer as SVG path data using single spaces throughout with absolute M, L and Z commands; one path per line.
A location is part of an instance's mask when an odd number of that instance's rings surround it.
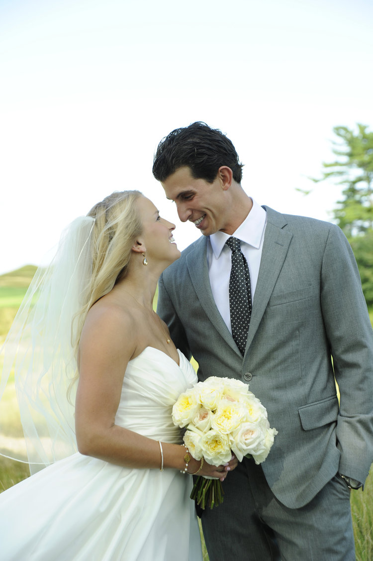
M 270 208 L 266 208 L 265 210 L 268 213 L 267 224 L 264 234 L 259 275 L 252 303 L 250 328 L 248 330 L 245 354 L 263 318 L 269 298 L 273 292 L 273 288 L 287 255 L 290 241 L 293 237 L 291 232 L 282 229 L 287 223 L 282 214 Z

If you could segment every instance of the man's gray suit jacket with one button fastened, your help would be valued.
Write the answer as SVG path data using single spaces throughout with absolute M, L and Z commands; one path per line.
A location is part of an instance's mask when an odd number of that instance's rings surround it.
M 278 430 L 263 471 L 289 508 L 340 471 L 365 481 L 373 461 L 373 332 L 356 261 L 337 226 L 270 208 L 246 352 L 215 305 L 207 238 L 159 281 L 158 312 L 198 376 L 250 380 Z M 245 376 L 249 373 L 251 376 Z M 340 389 L 340 404 L 335 390 Z M 234 472 L 232 473 L 234 476 Z

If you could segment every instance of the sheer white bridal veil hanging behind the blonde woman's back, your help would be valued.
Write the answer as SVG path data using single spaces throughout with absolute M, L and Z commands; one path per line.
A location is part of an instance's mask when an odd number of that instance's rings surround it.
M 80 217 L 66 228 L 50 264 L 36 271 L 0 351 L 0 454 L 26 461 L 31 473 L 76 452 L 76 388 L 71 402 L 67 392 L 76 373 L 73 318 L 89 289 L 93 227 L 93 218 Z

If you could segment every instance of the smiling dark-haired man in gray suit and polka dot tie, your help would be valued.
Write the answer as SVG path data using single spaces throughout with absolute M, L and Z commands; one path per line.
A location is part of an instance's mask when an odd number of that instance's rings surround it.
M 278 430 L 263 465 L 244 458 L 204 511 L 210 561 L 352 561 L 350 490 L 373 461 L 373 332 L 351 247 L 333 224 L 248 197 L 232 142 L 205 123 L 165 137 L 153 173 L 203 234 L 160 278 L 158 312 L 200 380 L 247 382 Z

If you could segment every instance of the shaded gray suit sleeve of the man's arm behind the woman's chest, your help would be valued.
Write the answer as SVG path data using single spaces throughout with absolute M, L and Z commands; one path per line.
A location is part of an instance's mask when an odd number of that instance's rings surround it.
M 171 297 L 165 287 L 163 274 L 158 281 L 158 304 L 156 312 L 168 325 L 172 341 L 188 360 L 191 359 L 192 353 L 189 348 L 188 340 L 182 323 L 174 309 Z

